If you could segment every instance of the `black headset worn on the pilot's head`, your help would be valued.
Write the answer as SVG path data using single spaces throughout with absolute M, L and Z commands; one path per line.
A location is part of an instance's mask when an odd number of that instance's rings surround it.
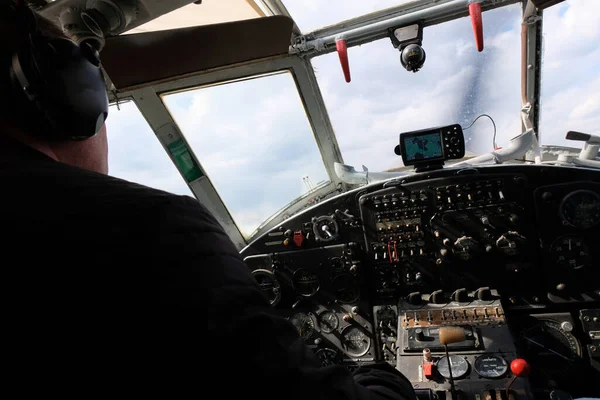
M 86 42 L 78 45 L 66 38 L 44 37 L 35 12 L 23 2 L 9 9 L 23 36 L 10 61 L 10 86 L 24 107 L 41 116 L 45 129 L 35 133 L 63 140 L 96 135 L 108 117 L 97 50 Z M 4 13 L 1 7 L 0 12 Z

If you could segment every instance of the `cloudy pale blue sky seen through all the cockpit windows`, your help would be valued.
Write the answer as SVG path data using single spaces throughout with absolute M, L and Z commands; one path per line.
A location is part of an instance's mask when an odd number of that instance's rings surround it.
M 391 5 L 379 0 L 285 0 L 304 32 Z M 342 4 L 344 7 L 336 7 Z M 427 61 L 409 73 L 389 39 L 349 49 L 352 82 L 337 54 L 312 59 L 344 162 L 361 169 L 400 166 L 398 134 L 470 124 L 491 115 L 497 142 L 520 133 L 520 7 L 485 12 L 485 49 L 475 49 L 468 18 L 427 27 Z M 600 134 L 600 1 L 567 0 L 544 12 L 542 144 L 567 142 L 568 130 Z M 290 74 L 178 93 L 165 103 L 234 219 L 246 234 L 327 179 Z M 191 195 L 135 104 L 113 107 L 108 121 L 111 174 Z M 467 150 L 492 150 L 492 124 L 465 131 Z

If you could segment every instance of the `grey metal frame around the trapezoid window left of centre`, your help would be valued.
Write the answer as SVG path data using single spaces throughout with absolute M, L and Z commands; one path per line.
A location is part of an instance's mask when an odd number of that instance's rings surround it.
M 227 205 L 223 202 L 211 182 L 210 176 L 202 168 L 202 160 L 196 157 L 193 149 L 185 140 L 185 136 L 177 125 L 176 120 L 168 111 L 162 96 L 212 85 L 235 84 L 235 81 L 253 79 L 278 72 L 289 72 L 294 80 L 298 96 L 304 106 L 308 123 L 321 153 L 329 182 L 319 185 L 313 191 L 292 200 L 245 238 L 227 209 Z M 181 140 L 185 143 L 193 160 L 202 171 L 200 178 L 187 183 L 196 198 L 217 217 L 238 249 L 243 248 L 257 236 L 281 224 L 282 221 L 305 209 L 313 202 L 328 198 L 347 189 L 346 184 L 342 182 L 335 172 L 335 163 L 343 164 L 343 158 L 337 144 L 337 139 L 333 133 L 333 128 L 323 98 L 321 97 L 314 71 L 310 63 L 307 63 L 300 57 L 284 55 L 251 61 L 236 66 L 202 71 L 176 80 L 160 82 L 149 87 L 119 94 L 119 99 L 122 98 L 131 98 L 135 101 L 142 115 L 144 115 L 150 127 L 154 130 L 157 138 L 172 160 L 173 157 L 168 150 L 169 144 L 176 140 Z M 183 175 L 183 171 L 179 167 L 178 169 Z

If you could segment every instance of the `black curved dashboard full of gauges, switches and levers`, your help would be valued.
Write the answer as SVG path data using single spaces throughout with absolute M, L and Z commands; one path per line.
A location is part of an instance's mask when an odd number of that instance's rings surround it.
M 387 362 L 421 398 L 600 396 L 600 172 L 414 174 L 316 204 L 241 254 L 323 365 Z M 445 327 L 463 332 L 448 353 Z

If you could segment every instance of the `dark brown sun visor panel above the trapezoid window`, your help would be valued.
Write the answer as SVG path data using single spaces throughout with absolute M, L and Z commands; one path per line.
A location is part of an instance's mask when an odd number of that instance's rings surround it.
M 293 21 L 284 16 L 108 38 L 102 62 L 118 90 L 212 68 L 287 54 Z

